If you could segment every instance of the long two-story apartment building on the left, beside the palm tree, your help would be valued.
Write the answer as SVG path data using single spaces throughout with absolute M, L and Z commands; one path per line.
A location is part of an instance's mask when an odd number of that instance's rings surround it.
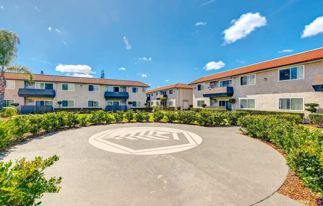
M 5 73 L 4 106 L 19 103 L 21 113 L 53 108 L 102 108 L 126 110 L 145 107 L 146 89 L 139 81 L 67 77 L 54 75 L 27 76 Z M 132 102 L 132 104 L 129 104 Z

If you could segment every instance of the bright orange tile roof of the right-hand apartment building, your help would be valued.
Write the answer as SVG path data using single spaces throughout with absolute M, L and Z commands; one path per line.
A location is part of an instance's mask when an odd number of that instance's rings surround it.
M 232 69 L 229 71 L 224 71 L 216 74 L 212 74 L 209 76 L 201 77 L 200 79 L 197 79 L 190 84 L 196 84 L 196 83 L 201 83 L 201 82 L 208 82 L 216 79 L 222 79 L 222 78 L 227 78 L 231 76 L 237 76 L 241 74 L 247 74 L 251 72 L 256 72 L 256 71 L 262 71 L 265 69 L 272 69 L 272 68 L 277 68 L 277 67 L 282 67 L 282 66 L 288 66 L 292 64 L 298 64 L 298 63 L 305 63 L 308 61 L 314 61 L 318 59 L 323 59 L 323 48 L 319 48 L 316 50 L 311 50 L 311 51 L 305 51 L 302 53 L 297 53 L 289 56 L 284 56 L 256 64 L 252 64 L 249 66 L 244 66 L 240 67 L 237 69 Z

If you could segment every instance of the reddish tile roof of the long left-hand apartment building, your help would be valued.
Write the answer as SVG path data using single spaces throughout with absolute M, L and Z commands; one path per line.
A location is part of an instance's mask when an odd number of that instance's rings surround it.
M 6 79 L 13 80 L 28 80 L 29 77 L 19 73 L 4 73 Z M 149 87 L 139 81 L 128 80 L 114 80 L 114 79 L 97 79 L 97 78 L 85 78 L 85 77 L 68 77 L 68 76 L 55 76 L 55 75 L 41 75 L 33 74 L 34 81 L 45 82 L 70 82 L 70 83 L 83 83 L 83 84 L 104 84 L 104 85 L 122 85 L 122 86 L 137 86 L 137 87 Z

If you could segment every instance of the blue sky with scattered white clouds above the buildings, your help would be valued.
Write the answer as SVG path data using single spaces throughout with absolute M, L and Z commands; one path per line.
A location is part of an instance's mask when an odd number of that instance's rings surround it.
M 322 3 L 0 0 L 0 28 L 18 34 L 16 62 L 34 73 L 105 69 L 107 79 L 156 88 L 323 47 Z

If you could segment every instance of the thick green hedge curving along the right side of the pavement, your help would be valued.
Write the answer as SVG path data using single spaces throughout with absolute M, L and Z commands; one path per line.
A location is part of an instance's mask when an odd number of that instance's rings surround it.
M 290 117 L 290 116 L 289 116 Z M 323 132 L 300 126 L 281 115 L 239 118 L 242 131 L 269 141 L 287 154 L 287 163 L 311 190 L 323 195 Z

